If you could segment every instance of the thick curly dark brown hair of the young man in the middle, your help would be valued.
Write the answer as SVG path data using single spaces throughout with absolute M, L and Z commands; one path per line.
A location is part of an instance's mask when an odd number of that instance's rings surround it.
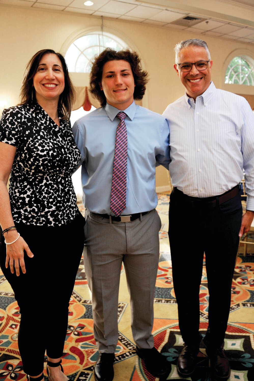
M 142 70 L 140 58 L 135 51 L 129 49 L 116 51 L 111 48 L 103 50 L 92 62 L 92 70 L 90 74 L 90 91 L 100 102 L 101 106 L 105 106 L 106 97 L 103 90 L 100 88 L 103 66 L 108 61 L 124 60 L 129 62 L 134 77 L 134 99 L 142 99 L 148 82 L 148 72 Z

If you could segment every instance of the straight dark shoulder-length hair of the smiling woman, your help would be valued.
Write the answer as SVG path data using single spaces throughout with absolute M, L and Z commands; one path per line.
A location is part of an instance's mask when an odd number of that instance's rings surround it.
M 36 104 L 35 89 L 33 86 L 33 78 L 39 66 L 39 62 L 44 54 L 55 54 L 63 66 L 64 72 L 64 90 L 59 97 L 58 109 L 61 112 L 62 119 L 69 120 L 71 115 L 71 109 L 76 99 L 75 88 L 69 77 L 68 68 L 64 57 L 60 53 L 56 53 L 51 49 L 42 49 L 32 56 L 26 66 L 24 73 L 23 83 L 20 91 L 20 104 Z

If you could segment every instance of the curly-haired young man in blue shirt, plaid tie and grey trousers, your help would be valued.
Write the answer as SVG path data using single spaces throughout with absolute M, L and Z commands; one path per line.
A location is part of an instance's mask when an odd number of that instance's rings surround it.
M 130 292 L 132 334 L 154 376 L 167 372 L 154 348 L 153 298 L 161 222 L 155 210 L 155 167 L 168 167 L 165 118 L 137 106 L 147 72 L 136 53 L 106 49 L 93 62 L 90 87 L 101 107 L 73 126 L 82 158 L 86 211 L 85 272 L 92 291 L 97 381 L 114 377 L 117 305 L 122 262 Z

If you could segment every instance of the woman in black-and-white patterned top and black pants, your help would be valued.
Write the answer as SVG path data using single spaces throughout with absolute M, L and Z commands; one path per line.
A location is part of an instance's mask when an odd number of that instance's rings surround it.
M 74 98 L 63 56 L 40 50 L 27 64 L 21 103 L 0 121 L 0 265 L 20 307 L 23 369 L 37 381 L 45 351 L 51 381 L 68 380 L 60 363 L 84 246 L 71 181 L 80 160 L 69 123 Z

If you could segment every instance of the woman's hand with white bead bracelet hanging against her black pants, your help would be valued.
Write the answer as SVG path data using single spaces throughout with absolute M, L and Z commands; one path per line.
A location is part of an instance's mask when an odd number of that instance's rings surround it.
M 14 235 L 13 232 L 12 234 L 10 233 L 11 232 L 8 233 L 9 237 L 8 239 L 6 239 L 6 242 L 12 242 L 18 237 L 17 231 L 15 231 L 16 235 Z M 16 240 L 16 242 L 12 243 L 11 245 L 6 245 L 5 267 L 7 269 L 8 266 L 10 266 L 11 273 L 14 274 L 16 271 L 17 277 L 20 274 L 20 268 L 23 274 L 26 274 L 24 251 L 26 251 L 27 256 L 29 256 L 30 258 L 34 256 L 32 251 L 29 249 L 26 241 L 24 241 L 24 239 L 21 236 L 18 240 Z

